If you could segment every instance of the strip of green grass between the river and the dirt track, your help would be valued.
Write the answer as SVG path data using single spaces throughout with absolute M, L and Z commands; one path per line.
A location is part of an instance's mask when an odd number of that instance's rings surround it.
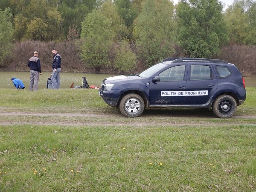
M 119 113 L 109 107 L 93 89 L 41 89 L 29 90 L 0 89 L 0 110 L 30 112 L 81 112 L 81 113 Z M 236 115 L 256 114 L 256 87 L 247 87 L 247 97 L 243 105 L 238 106 Z M 209 116 L 212 112 L 204 109 L 148 109 L 157 114 L 190 114 Z M 145 111 L 145 113 L 147 113 Z M 194 113 L 196 111 L 197 113 Z

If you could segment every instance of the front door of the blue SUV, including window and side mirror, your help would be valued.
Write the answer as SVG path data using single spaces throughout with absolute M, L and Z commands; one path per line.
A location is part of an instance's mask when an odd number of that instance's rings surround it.
M 158 73 L 160 81 L 150 81 L 150 105 L 183 105 L 186 87 L 187 63 L 171 66 Z

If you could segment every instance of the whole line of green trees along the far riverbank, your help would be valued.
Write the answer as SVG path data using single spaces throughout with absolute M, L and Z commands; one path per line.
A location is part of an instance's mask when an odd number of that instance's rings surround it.
M 85 66 L 122 74 L 166 57 L 219 58 L 224 47 L 256 46 L 255 0 L 225 10 L 219 0 L 0 0 L 0 19 L 2 67 L 24 41 L 75 42 Z

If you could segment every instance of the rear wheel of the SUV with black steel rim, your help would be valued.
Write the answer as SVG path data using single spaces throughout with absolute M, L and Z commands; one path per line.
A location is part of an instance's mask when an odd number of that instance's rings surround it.
M 230 118 L 236 113 L 236 100 L 230 95 L 218 96 L 213 102 L 212 111 L 219 118 Z

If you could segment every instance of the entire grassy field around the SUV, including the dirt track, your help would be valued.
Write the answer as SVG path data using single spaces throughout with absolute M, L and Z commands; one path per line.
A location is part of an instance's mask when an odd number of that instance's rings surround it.
M 256 191 L 255 116 L 255 87 L 231 119 L 125 118 L 97 90 L 0 88 L 0 192 Z

